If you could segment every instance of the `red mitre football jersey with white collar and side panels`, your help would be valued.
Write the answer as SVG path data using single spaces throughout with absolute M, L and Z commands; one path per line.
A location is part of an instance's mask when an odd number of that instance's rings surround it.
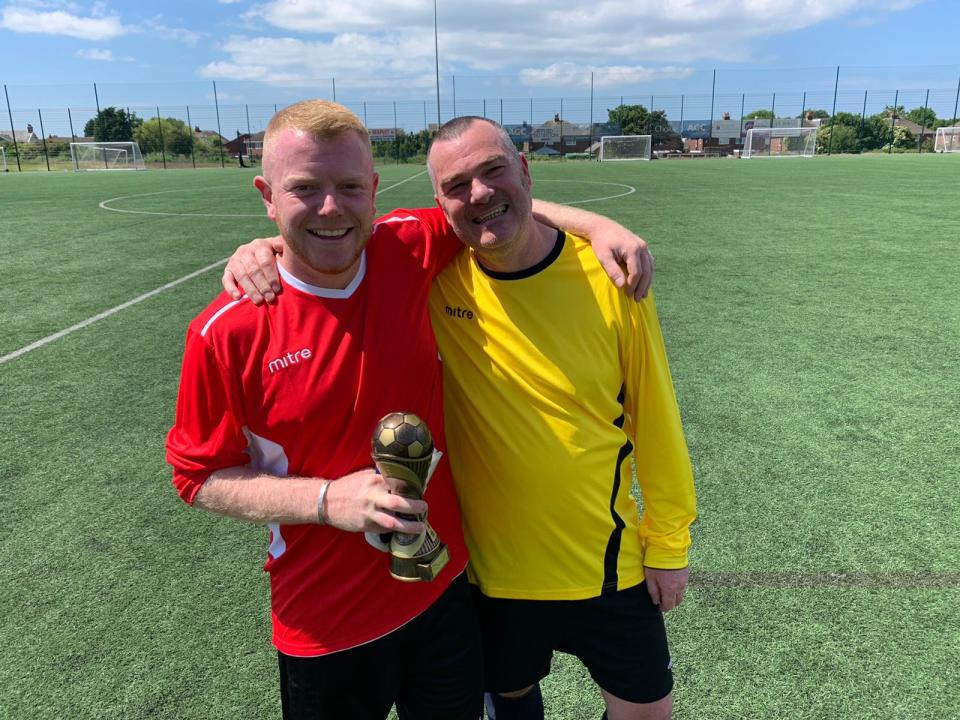
M 389 412 L 425 419 L 446 449 L 443 389 L 427 297 L 461 248 L 439 210 L 396 210 L 374 228 L 343 290 L 284 273 L 275 305 L 221 294 L 190 324 L 167 460 L 192 503 L 215 470 L 339 478 L 370 467 L 370 435 Z M 385 635 L 429 607 L 467 562 L 450 465 L 426 494 L 450 550 L 433 582 L 404 583 L 363 533 L 270 525 L 273 642 L 315 656 Z

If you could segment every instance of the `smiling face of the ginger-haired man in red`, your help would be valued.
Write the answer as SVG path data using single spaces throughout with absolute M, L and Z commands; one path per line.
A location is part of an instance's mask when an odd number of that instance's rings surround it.
M 346 287 L 376 214 L 379 178 L 369 146 L 352 131 L 319 139 L 284 128 L 271 138 L 263 165 L 254 184 L 290 250 L 280 262 L 305 282 Z

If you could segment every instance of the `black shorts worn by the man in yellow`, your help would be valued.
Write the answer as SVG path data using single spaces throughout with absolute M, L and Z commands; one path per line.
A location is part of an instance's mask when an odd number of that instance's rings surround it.
M 476 588 L 474 600 L 487 692 L 540 682 L 555 650 L 580 658 L 594 682 L 621 700 L 655 702 L 673 689 L 663 614 L 645 582 L 588 600 L 507 600 Z

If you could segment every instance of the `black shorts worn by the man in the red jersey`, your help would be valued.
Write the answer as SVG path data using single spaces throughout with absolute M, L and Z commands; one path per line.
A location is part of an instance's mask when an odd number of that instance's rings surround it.
M 476 720 L 483 707 L 482 656 L 466 578 L 426 612 L 360 647 L 319 657 L 280 653 L 285 720 Z

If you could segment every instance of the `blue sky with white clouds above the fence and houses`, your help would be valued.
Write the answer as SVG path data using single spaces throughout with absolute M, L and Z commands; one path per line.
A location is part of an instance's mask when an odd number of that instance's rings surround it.
M 909 89 L 950 115 L 957 0 L 438 0 L 441 94 L 800 92 L 823 106 Z M 429 0 L 0 0 L 0 81 L 14 108 L 285 103 L 298 97 L 435 103 Z M 881 95 L 876 101 L 881 102 Z M 891 95 L 892 100 L 892 95 Z M 808 102 L 808 104 L 811 104 Z M 901 101 L 901 104 L 903 102 Z M 949 106 L 949 107 L 948 107 Z M 739 108 L 735 108 L 739 109 Z M 435 111 L 434 111 L 435 113 Z

